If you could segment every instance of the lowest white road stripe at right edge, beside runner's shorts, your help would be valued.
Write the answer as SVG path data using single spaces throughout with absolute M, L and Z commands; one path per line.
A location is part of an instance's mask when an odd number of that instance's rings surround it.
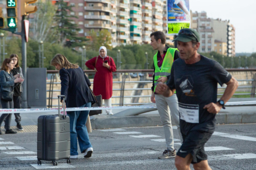
M 255 159 L 255 158 L 256 158 L 256 154 L 254 153 L 208 156 L 208 160 L 243 160 L 243 159 Z

